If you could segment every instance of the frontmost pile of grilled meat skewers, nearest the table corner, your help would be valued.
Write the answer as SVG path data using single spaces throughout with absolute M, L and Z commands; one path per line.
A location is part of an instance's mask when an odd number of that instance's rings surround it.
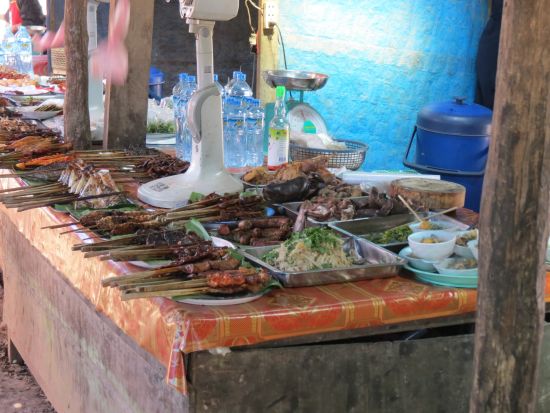
M 215 247 L 210 241 L 185 242 L 172 253 L 175 260 L 170 266 L 107 278 L 102 285 L 117 287 L 122 300 L 131 300 L 256 293 L 271 280 L 264 270 L 243 267 L 228 248 Z

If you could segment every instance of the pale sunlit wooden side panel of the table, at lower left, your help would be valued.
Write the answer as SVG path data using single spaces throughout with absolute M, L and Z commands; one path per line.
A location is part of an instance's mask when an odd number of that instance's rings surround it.
M 8 334 L 55 409 L 187 411 L 165 366 L 99 314 L 8 217 L 0 224 Z

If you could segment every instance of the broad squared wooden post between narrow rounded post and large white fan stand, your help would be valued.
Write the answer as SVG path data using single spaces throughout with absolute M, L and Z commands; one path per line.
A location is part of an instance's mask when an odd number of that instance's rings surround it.
M 112 19 L 116 1 L 111 0 L 110 4 Z M 128 79 L 124 86 L 107 84 L 105 148 L 145 146 L 154 4 L 151 0 L 131 1 L 130 27 L 126 36 Z

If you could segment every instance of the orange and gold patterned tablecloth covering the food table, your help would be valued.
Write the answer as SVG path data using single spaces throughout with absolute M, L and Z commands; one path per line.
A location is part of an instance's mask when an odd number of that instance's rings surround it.
M 19 183 L 3 179 L 0 185 Z M 199 307 L 161 298 L 123 302 L 116 289 L 102 288 L 100 281 L 137 268 L 85 259 L 72 251 L 71 246 L 85 234 L 59 236 L 58 230 L 41 229 L 71 218 L 47 208 L 17 213 L 2 206 L 0 212 L 98 311 L 165 364 L 169 383 L 184 393 L 184 353 L 475 311 L 474 290 L 433 287 L 398 276 L 277 290 L 252 303 L 228 307 Z M 550 301 L 549 279 L 546 300 Z

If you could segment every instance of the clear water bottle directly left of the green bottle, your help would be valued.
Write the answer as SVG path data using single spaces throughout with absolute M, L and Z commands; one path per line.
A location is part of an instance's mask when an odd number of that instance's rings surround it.
M 246 112 L 246 166 L 264 163 L 265 112 L 259 99 L 252 99 Z

